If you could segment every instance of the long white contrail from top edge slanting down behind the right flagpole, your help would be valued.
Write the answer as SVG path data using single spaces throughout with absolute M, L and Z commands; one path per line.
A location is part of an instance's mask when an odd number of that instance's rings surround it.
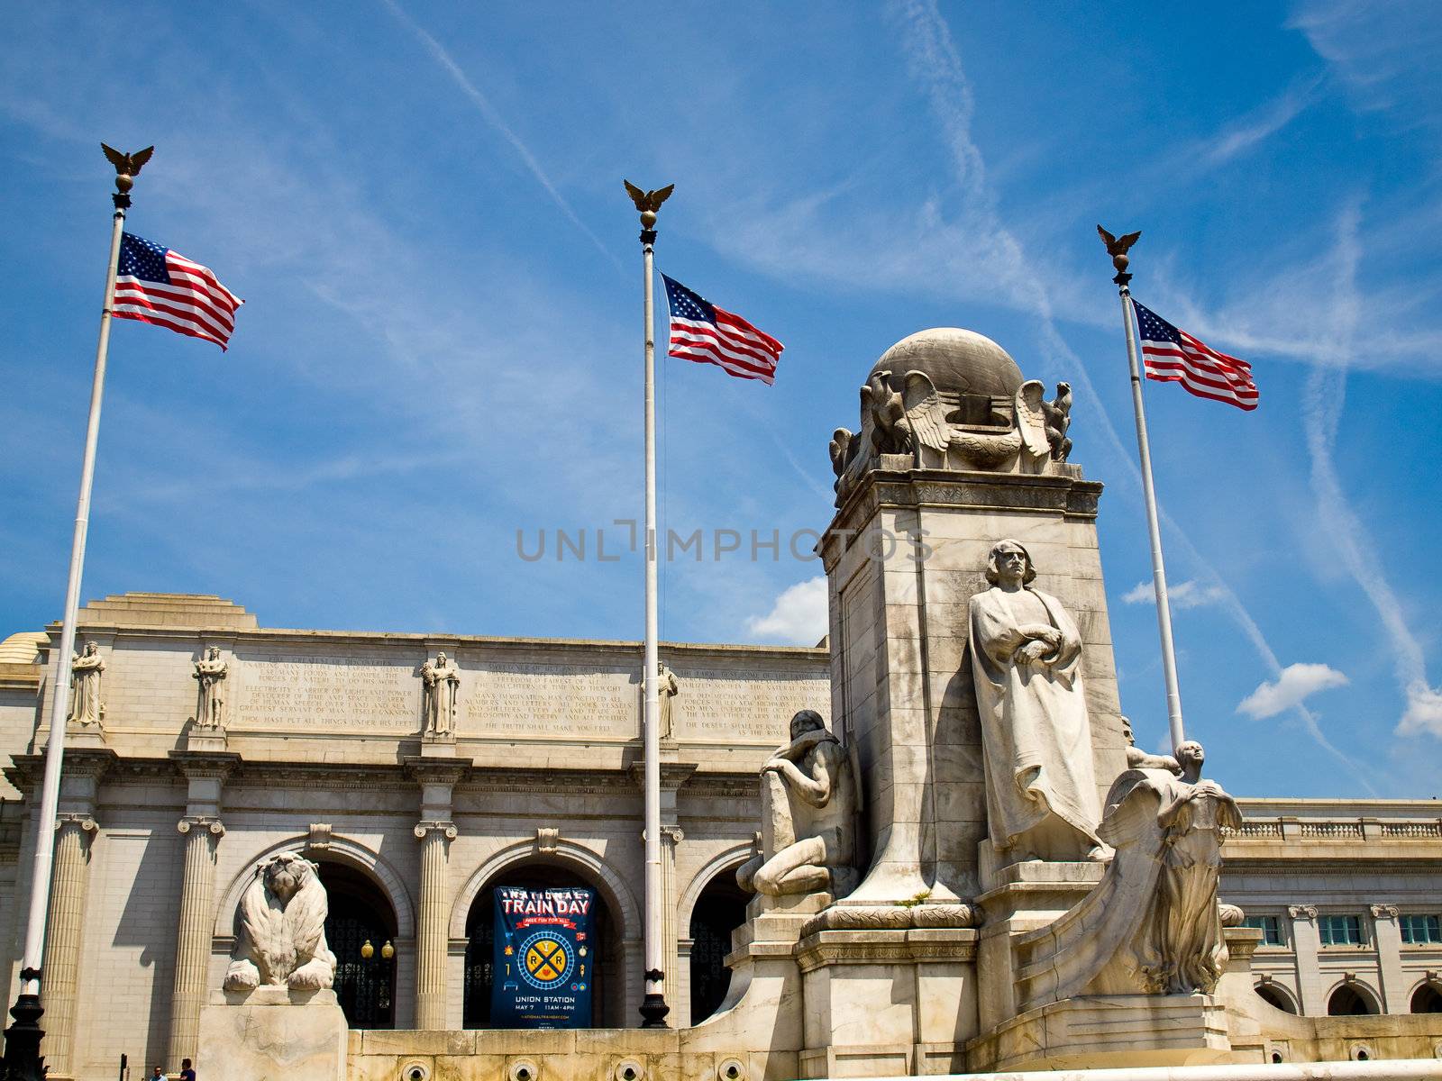
M 950 29 L 942 19 L 934 0 L 901 0 L 898 9 L 906 23 L 906 39 L 913 61 L 913 76 L 921 82 L 932 99 L 932 108 L 942 124 L 943 135 L 952 150 L 957 179 L 965 195 L 966 212 L 975 219 L 973 236 L 988 238 L 988 249 L 979 252 L 982 261 L 994 264 L 992 270 L 998 285 L 1007 288 L 1018 298 L 1018 304 L 1035 311 L 1041 319 L 1043 344 L 1058 362 L 1070 378 L 1079 382 L 1079 389 L 1092 401 L 1096 417 L 1102 421 L 1102 430 L 1116 450 L 1118 458 L 1128 464 L 1132 480 L 1141 486 L 1141 470 L 1132 460 L 1131 451 L 1122 444 L 1116 428 L 1112 425 L 1102 399 L 1092 385 L 1092 379 L 1080 357 L 1061 337 L 1053 317 L 1051 300 L 1040 275 L 1027 265 L 1027 257 L 1021 242 L 1001 222 L 996 210 L 996 200 L 986 184 L 985 160 L 981 148 L 972 140 L 972 88 L 962 65 L 962 58 L 952 40 Z M 1223 608 L 1230 614 L 1244 631 L 1247 640 L 1257 651 L 1259 659 L 1272 670 L 1273 676 L 1280 675 L 1282 666 L 1272 650 L 1262 630 L 1247 613 L 1240 598 L 1231 591 L 1211 562 L 1195 549 L 1185 532 L 1177 529 L 1167 512 L 1158 503 L 1158 513 L 1167 522 L 1172 539 L 1180 540 L 1187 553 L 1204 569 L 1206 575 L 1223 591 Z M 1317 744 L 1341 762 L 1361 786 L 1376 794 L 1376 788 L 1360 771 L 1358 764 L 1338 751 L 1322 734 L 1315 715 L 1305 706 L 1293 708 L 1304 728 Z

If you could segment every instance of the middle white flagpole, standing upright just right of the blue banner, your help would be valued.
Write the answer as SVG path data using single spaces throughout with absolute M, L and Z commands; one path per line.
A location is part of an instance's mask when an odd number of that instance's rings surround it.
M 630 190 L 630 189 L 627 189 Z M 669 192 L 668 192 L 669 195 Z M 634 193 L 632 196 L 636 199 Z M 665 196 L 662 196 L 665 197 Z M 656 646 L 656 330 L 652 280 L 655 277 L 656 206 L 647 199 L 637 200 L 640 209 L 640 249 L 645 267 L 643 308 L 646 340 L 646 646 L 643 657 L 643 724 L 645 748 L 645 846 L 646 846 L 646 997 L 642 1002 L 642 1028 L 666 1028 L 671 1012 L 666 1005 L 666 974 L 662 943 L 660 895 L 660 702 L 658 698 Z

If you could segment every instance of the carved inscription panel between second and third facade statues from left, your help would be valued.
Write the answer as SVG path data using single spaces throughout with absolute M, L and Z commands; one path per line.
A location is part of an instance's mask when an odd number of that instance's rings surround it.
M 235 724 L 255 728 L 420 725 L 420 680 L 378 657 L 238 656 Z

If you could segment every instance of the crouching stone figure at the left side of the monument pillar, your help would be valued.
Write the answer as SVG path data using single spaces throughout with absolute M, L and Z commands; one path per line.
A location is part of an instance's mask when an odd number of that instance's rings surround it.
M 737 872 L 769 897 L 857 888 L 857 770 L 815 709 L 792 718 L 792 741 L 761 767 L 761 852 Z

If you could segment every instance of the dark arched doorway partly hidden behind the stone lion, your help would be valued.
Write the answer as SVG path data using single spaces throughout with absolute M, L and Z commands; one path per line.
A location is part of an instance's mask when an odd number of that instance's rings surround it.
M 365 872 L 330 859 L 317 865 L 330 899 L 326 943 L 336 956 L 336 997 L 346 1023 L 353 1029 L 394 1029 L 395 957 L 386 957 L 385 947 L 395 948 L 395 909 Z

